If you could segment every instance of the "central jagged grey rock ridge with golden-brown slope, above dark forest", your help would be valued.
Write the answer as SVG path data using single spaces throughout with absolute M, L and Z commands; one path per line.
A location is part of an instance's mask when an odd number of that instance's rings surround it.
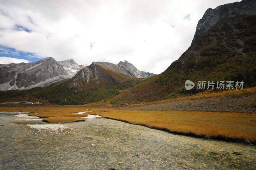
M 88 83 L 100 85 L 103 81 L 107 84 L 120 82 L 125 78 L 147 78 L 156 74 L 140 71 L 127 61 L 118 64 L 108 62 L 92 62 L 90 66 L 85 66 L 72 78 L 72 86 L 83 86 Z M 77 83 L 80 82 L 80 83 Z M 83 83 L 81 83 L 83 82 Z

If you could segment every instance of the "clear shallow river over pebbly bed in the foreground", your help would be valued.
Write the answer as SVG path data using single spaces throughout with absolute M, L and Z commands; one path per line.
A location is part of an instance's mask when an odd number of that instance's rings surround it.
M 103 118 L 35 129 L 26 124 L 50 123 L 17 114 L 0 113 L 0 169 L 256 169 L 251 145 Z

